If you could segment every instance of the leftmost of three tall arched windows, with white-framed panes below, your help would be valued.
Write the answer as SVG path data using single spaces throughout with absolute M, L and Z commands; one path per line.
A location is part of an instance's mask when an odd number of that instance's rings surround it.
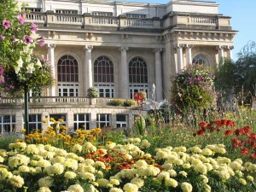
M 79 96 L 79 65 L 71 55 L 64 55 L 58 61 L 59 96 Z

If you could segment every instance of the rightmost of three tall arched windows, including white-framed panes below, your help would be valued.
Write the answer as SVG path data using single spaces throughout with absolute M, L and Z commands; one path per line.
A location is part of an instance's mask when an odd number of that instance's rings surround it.
M 148 94 L 148 68 L 141 57 L 134 57 L 129 62 L 129 89 L 130 97 L 134 93 L 144 90 Z

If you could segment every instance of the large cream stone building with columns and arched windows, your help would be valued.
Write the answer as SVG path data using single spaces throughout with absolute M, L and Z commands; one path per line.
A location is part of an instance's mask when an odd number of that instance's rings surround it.
M 22 0 L 20 0 L 20 3 Z M 52 64 L 55 85 L 31 99 L 31 128 L 63 118 L 70 131 L 82 125 L 131 126 L 137 108 L 113 108 L 114 98 L 138 90 L 156 101 L 170 96 L 170 77 L 192 63 L 218 67 L 232 58 L 236 31 L 218 3 L 172 0 L 166 4 L 100 0 L 24 0 L 26 21 L 38 25 L 46 44 L 37 51 Z M 95 86 L 99 98 L 86 98 Z M 0 131 L 23 127 L 22 99 L 2 96 Z M 42 124 L 48 119 L 48 124 Z

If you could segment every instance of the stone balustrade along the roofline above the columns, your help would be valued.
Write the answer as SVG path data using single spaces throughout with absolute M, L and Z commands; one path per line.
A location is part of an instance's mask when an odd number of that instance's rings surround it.
M 149 29 L 165 29 L 170 26 L 186 25 L 186 26 L 213 26 L 213 27 L 230 27 L 230 17 L 222 15 L 188 15 L 177 14 L 169 15 L 163 20 L 160 18 L 140 19 L 128 18 L 125 15 L 114 16 L 98 16 L 98 15 L 67 15 L 56 14 L 53 11 L 45 13 L 32 12 L 26 15 L 26 20 L 44 26 L 66 25 L 79 26 L 113 26 L 119 28 L 149 28 Z

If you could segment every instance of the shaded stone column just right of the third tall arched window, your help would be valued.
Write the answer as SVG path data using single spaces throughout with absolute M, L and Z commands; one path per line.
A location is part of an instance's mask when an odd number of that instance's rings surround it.
M 155 100 L 160 102 L 163 99 L 162 88 L 162 62 L 161 52 L 162 49 L 154 49 L 154 67 L 155 67 Z

